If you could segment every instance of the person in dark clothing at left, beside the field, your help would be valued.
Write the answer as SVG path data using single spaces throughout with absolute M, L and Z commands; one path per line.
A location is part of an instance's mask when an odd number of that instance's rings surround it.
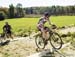
M 5 22 L 5 25 L 3 26 L 3 33 L 6 34 L 6 36 L 9 38 L 9 36 L 12 37 L 11 32 L 11 26 L 8 24 L 8 22 Z

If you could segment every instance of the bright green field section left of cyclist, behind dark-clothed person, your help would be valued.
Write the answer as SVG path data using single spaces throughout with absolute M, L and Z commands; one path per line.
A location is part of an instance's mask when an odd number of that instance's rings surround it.
M 2 32 L 2 27 L 6 21 L 12 26 L 13 31 L 18 31 L 20 29 L 25 29 L 27 31 L 30 27 L 31 29 L 36 28 L 38 18 L 18 18 L 0 21 L 0 32 Z

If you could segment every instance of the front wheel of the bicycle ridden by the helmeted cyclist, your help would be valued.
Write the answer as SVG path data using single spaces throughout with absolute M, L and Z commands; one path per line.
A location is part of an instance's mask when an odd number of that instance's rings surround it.
M 54 49 L 60 49 L 62 47 L 62 39 L 58 33 L 53 32 L 50 37 L 51 46 Z

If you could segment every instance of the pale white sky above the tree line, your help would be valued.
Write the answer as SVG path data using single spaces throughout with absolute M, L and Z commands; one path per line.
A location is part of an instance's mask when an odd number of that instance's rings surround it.
M 75 5 L 75 0 L 0 0 L 0 7 L 9 7 L 10 4 L 16 6 L 21 3 L 23 7 L 40 7 L 52 5 Z

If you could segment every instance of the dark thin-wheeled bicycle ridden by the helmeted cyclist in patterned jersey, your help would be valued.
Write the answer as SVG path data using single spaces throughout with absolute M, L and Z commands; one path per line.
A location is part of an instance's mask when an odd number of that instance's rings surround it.
M 53 31 L 52 28 L 48 28 L 48 32 L 49 32 L 49 38 L 47 39 L 47 41 L 50 42 L 51 46 L 54 48 L 54 49 L 60 49 L 62 47 L 62 39 L 61 39 L 61 36 Z M 35 43 L 36 43 L 36 46 L 40 49 L 44 49 L 45 48 L 45 40 L 42 36 L 42 33 L 41 34 L 38 34 L 35 38 Z

